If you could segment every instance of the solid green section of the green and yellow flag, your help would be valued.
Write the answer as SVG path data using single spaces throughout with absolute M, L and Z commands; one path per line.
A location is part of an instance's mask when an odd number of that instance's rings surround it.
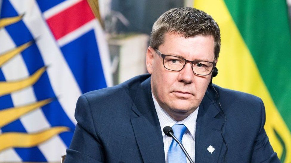
M 286 0 L 225 0 L 225 4 L 291 131 L 291 34 Z

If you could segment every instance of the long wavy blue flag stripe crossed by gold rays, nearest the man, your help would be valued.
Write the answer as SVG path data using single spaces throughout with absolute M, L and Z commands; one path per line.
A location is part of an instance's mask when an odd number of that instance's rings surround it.
M 10 16 L 18 15 L 18 13 L 14 10 L 14 8 L 11 6 L 9 1 L 7 0 L 3 1 L 2 9 L 3 8 L 5 10 L 1 11 L 2 17 L 10 17 Z M 10 34 L 11 38 L 13 39 L 13 41 L 15 42 L 17 46 L 22 45 L 23 43 L 28 42 L 33 39 L 29 30 L 27 29 L 27 27 L 22 21 L 12 24 L 10 26 L 7 26 L 5 27 L 5 29 Z M 27 69 L 30 75 L 32 75 L 37 69 L 44 66 L 44 62 L 41 58 L 41 54 L 38 50 L 38 47 L 35 44 L 31 45 L 29 48 L 24 50 L 22 52 L 22 57 L 24 58 L 24 61 L 27 65 Z M 45 72 L 41 76 L 40 80 L 33 86 L 33 88 L 35 90 L 35 95 L 38 100 L 55 97 L 55 94 L 49 83 L 49 77 L 47 75 L 47 72 Z M 64 143 L 67 146 L 69 146 L 70 141 L 72 139 L 73 132 L 75 130 L 75 125 L 68 118 L 64 110 L 61 108 L 61 105 L 59 104 L 59 102 L 55 100 L 54 102 L 42 107 L 42 110 L 47 120 L 51 124 L 51 126 L 68 126 L 71 129 L 71 132 L 65 132 L 65 133 L 60 134 L 60 137 L 64 141 Z M 22 150 L 25 150 L 25 148 Z

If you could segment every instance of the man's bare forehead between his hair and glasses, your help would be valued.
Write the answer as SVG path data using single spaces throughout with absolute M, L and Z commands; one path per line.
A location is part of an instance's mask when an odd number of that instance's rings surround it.
M 163 54 L 183 57 L 187 60 L 214 60 L 213 36 L 197 35 L 184 37 L 177 33 L 166 33 L 164 42 L 159 46 Z

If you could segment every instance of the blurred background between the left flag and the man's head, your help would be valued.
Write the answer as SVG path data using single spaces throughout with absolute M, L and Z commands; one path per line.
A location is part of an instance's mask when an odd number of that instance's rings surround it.
M 193 7 L 191 0 L 100 0 L 99 4 L 114 85 L 146 73 L 145 57 L 151 28 L 162 13 L 176 7 Z

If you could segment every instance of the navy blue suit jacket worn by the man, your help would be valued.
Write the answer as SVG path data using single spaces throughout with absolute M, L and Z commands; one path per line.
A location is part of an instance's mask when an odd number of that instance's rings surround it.
M 227 117 L 226 161 L 280 162 L 264 130 L 265 108 L 256 96 L 215 86 Z M 225 121 L 216 93 L 208 88 L 196 123 L 195 162 L 223 162 Z M 165 162 L 161 127 L 151 96 L 150 75 L 80 96 L 78 124 L 65 163 Z M 207 148 L 212 145 L 211 154 Z

